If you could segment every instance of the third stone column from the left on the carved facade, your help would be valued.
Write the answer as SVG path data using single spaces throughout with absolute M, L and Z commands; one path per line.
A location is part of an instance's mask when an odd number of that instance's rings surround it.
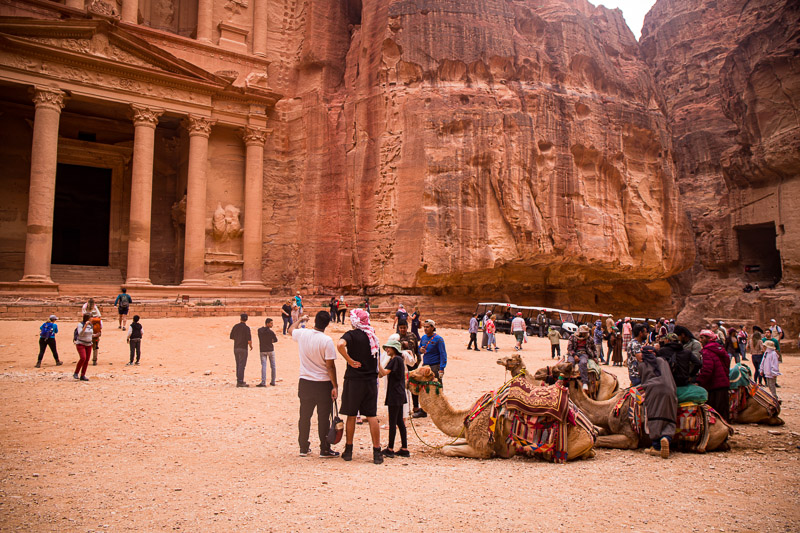
M 186 191 L 186 233 L 181 285 L 205 285 L 206 172 L 208 137 L 215 121 L 189 115 L 189 176 Z

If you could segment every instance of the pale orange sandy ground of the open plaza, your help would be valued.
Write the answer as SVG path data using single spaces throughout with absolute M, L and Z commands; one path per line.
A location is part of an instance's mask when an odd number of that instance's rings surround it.
M 62 323 L 58 336 L 65 365 L 48 352 L 35 369 L 39 323 L 0 322 L 0 530 L 800 530 L 796 357 L 782 366 L 787 424 L 737 426 L 731 452 L 479 461 L 444 457 L 411 433 L 410 459 L 377 466 L 366 426 L 357 426 L 350 463 L 299 457 L 297 346 L 279 335 L 276 387 L 237 389 L 228 340 L 236 321 L 146 320 L 138 367 L 125 366 L 125 335 L 108 321 L 88 383 L 72 379 L 74 325 Z M 503 383 L 496 354 L 468 352 L 465 331 L 440 333 L 455 406 Z M 390 325 L 378 334 L 385 340 Z M 512 352 L 511 337 L 499 345 Z M 251 385 L 260 380 L 253 354 Z M 546 339 L 531 339 L 523 355 L 529 369 L 549 362 Z M 380 403 L 385 423 L 383 392 Z M 428 442 L 448 441 L 430 419 L 417 426 Z

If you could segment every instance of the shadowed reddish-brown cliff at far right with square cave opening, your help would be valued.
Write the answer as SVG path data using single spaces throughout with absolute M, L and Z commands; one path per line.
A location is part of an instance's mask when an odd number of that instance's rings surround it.
M 659 0 L 641 48 L 664 98 L 695 234 L 695 268 L 674 281 L 686 298 L 682 318 L 719 317 L 720 299 L 732 295 L 709 287 L 741 295 L 746 281 L 764 287 L 778 278 L 775 294 L 762 291 L 772 303 L 756 318 L 797 322 L 789 310 L 800 306 L 800 214 L 792 202 L 800 195 L 800 4 Z M 779 267 L 746 273 L 748 263 L 769 262 L 770 246 Z M 786 312 L 775 313 L 780 308 Z

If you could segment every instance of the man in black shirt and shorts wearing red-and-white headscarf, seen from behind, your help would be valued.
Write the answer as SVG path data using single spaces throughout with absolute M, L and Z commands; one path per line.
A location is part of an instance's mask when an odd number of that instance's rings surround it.
M 345 447 L 342 459 L 353 459 L 353 434 L 356 431 L 356 416 L 361 413 L 369 423 L 372 436 L 372 460 L 383 462 L 381 434 L 378 426 L 378 358 L 380 344 L 375 330 L 369 324 L 369 313 L 363 309 L 350 311 L 353 329 L 342 335 L 336 348 L 347 361 L 342 386 L 342 407 L 339 412 L 347 416 L 345 423 Z

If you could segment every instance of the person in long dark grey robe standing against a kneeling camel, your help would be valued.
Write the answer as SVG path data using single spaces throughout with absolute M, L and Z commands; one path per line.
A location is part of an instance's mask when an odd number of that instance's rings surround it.
M 678 391 L 669 363 L 656 357 L 652 346 L 644 346 L 636 354 L 639 376 L 644 389 L 644 406 L 647 410 L 647 434 L 653 441 L 648 453 L 669 458 L 669 445 L 675 436 L 675 418 L 678 415 Z

